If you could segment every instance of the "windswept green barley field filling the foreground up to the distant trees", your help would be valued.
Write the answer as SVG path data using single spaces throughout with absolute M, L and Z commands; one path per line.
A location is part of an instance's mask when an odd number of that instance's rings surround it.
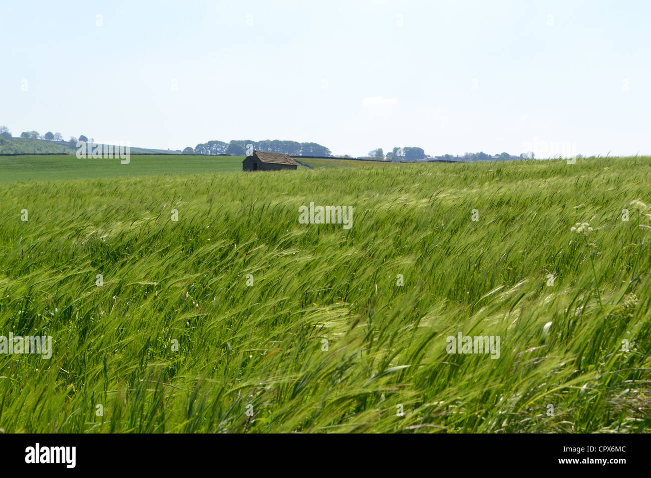
M 651 158 L 152 158 L 0 159 L 5 432 L 651 432 Z

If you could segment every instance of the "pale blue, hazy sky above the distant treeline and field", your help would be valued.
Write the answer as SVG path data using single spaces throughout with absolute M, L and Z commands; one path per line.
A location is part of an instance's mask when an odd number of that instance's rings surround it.
M 14 136 L 651 153 L 648 1 L 2 0 L 0 11 L 0 125 Z

